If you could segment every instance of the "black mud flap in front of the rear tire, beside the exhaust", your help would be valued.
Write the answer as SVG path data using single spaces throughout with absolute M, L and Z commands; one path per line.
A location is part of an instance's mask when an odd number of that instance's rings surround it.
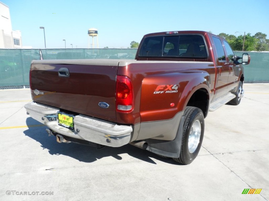
M 148 143 L 148 147 L 146 150 L 170 158 L 179 158 L 184 118 L 185 116 L 181 117 L 178 132 L 176 133 L 176 137 L 174 140 L 167 141 L 167 140 L 147 139 L 145 140 L 145 142 Z

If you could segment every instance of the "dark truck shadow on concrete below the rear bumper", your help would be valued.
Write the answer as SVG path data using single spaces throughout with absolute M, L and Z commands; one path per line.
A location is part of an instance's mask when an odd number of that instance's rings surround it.
M 43 150 L 48 150 L 49 154 L 51 155 L 66 155 L 82 162 L 91 163 L 97 161 L 97 159 L 109 156 L 122 160 L 120 154 L 126 153 L 134 158 L 148 163 L 156 164 L 156 162 L 151 159 L 155 158 L 166 163 L 181 165 L 171 158 L 162 158 L 156 154 L 134 147 L 130 144 L 122 147 L 104 147 L 97 150 L 96 147 L 77 143 L 58 143 L 56 142 L 55 136 L 48 136 L 47 132 L 45 131 L 47 127 L 45 125 L 42 126 L 43 124 L 40 124 L 40 122 L 34 120 L 33 118 L 28 117 L 26 119 L 26 125 L 28 126 L 28 129 L 24 131 L 24 134 L 39 142 Z

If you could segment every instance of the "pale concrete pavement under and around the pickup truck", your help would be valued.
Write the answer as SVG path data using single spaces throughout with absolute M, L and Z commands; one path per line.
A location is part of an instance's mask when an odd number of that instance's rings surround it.
M 129 144 L 59 144 L 26 115 L 29 89 L 0 90 L 0 200 L 269 200 L 269 84 L 243 88 L 240 105 L 208 114 L 190 165 Z

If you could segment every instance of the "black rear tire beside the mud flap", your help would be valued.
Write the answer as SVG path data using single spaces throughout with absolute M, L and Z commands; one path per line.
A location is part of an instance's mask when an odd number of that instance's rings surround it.
M 173 158 L 173 159 L 176 162 L 187 165 L 187 164 L 190 164 L 197 157 L 200 151 L 201 144 L 203 142 L 203 137 L 204 137 L 204 115 L 203 115 L 202 110 L 200 110 L 199 108 L 190 107 L 190 106 L 186 107 L 186 110 L 184 111 L 184 115 L 185 115 L 185 119 L 184 119 L 183 133 L 182 133 L 180 155 L 179 155 L 179 158 Z M 194 122 L 195 122 L 195 125 L 194 125 Z M 191 146 L 191 148 L 189 149 L 189 136 L 193 129 L 193 125 L 196 126 L 196 128 L 198 128 L 199 124 L 200 124 L 200 138 L 198 139 L 197 137 L 197 139 L 194 140 L 196 143 L 194 143 L 193 146 Z M 191 142 L 190 142 L 190 145 L 192 145 Z

